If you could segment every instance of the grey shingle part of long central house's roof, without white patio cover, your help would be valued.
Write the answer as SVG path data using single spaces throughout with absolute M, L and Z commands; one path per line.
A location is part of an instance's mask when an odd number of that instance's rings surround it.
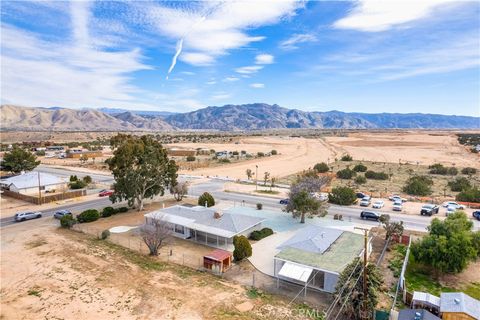
M 184 207 L 184 206 L 172 206 L 169 208 L 158 211 L 160 214 L 169 214 L 182 218 L 191 219 L 197 226 L 203 226 L 211 228 L 211 232 L 216 234 L 215 230 L 223 230 L 231 234 L 231 236 L 241 233 L 253 226 L 263 222 L 265 219 L 242 215 L 242 214 L 230 214 L 225 212 L 220 218 L 214 217 L 216 209 L 205 207 Z M 154 212 L 152 214 L 155 214 Z M 193 225 L 187 227 L 194 227 Z M 226 235 L 227 233 L 223 233 Z

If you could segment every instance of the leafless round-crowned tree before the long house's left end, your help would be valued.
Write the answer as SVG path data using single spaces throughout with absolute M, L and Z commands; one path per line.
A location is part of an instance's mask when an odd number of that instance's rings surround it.
M 140 228 L 140 236 L 147 245 L 151 256 L 158 256 L 158 250 L 166 243 L 171 234 L 172 230 L 163 214 L 147 218 L 147 223 Z

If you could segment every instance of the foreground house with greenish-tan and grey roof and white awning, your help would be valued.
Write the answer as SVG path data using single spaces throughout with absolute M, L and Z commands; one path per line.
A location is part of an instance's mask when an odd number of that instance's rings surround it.
M 278 247 L 275 277 L 332 293 L 340 273 L 363 253 L 363 247 L 360 234 L 318 226 L 302 228 Z

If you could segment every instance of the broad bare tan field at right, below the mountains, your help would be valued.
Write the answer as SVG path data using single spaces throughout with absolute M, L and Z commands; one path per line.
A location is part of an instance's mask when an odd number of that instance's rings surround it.
M 357 160 L 443 163 L 480 168 L 480 155 L 466 150 L 454 133 L 397 132 L 353 133 L 348 137 L 326 137 L 332 147 Z

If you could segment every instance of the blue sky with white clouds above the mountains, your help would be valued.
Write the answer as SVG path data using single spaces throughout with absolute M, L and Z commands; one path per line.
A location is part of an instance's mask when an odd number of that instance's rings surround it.
M 1 103 L 480 116 L 480 2 L 2 1 Z

